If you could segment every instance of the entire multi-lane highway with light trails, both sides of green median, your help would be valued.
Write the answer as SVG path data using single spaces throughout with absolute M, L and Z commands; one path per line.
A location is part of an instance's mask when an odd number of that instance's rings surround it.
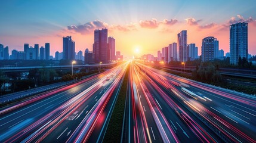
M 120 142 L 256 142 L 255 97 L 135 61 L 2 107 L 0 142 L 102 142 L 128 66 Z

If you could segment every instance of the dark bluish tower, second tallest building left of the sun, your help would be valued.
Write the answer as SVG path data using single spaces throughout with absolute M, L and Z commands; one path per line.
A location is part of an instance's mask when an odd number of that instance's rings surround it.
M 71 36 L 63 37 L 63 59 L 75 60 L 75 42 Z

